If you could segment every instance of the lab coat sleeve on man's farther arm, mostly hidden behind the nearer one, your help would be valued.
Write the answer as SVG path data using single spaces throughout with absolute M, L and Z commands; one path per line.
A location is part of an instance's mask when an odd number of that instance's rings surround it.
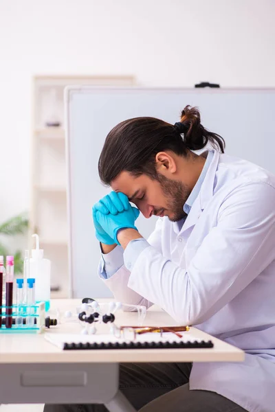
M 162 219 L 159 218 L 157 220 L 155 230 L 153 233 L 151 233 L 151 236 L 148 238 L 148 242 L 155 247 L 156 250 L 161 252 L 161 233 L 162 233 Z M 116 249 L 116 248 L 115 248 Z M 142 252 L 141 252 L 142 253 Z M 103 262 L 100 262 L 100 265 L 98 267 L 98 274 L 100 275 L 101 278 L 102 276 L 102 264 Z M 129 282 L 129 276 L 130 276 L 130 271 L 126 268 L 126 266 L 123 264 L 120 266 L 118 271 L 113 273 L 109 279 L 102 279 L 104 284 L 108 286 L 108 288 L 111 290 L 113 293 L 113 296 L 115 297 L 115 300 L 121 301 L 124 304 L 132 304 L 132 305 L 144 305 L 146 308 L 149 308 L 152 306 L 152 302 L 148 301 L 148 299 L 144 299 L 143 295 L 140 295 L 139 293 L 136 293 L 134 290 L 129 288 L 128 282 Z

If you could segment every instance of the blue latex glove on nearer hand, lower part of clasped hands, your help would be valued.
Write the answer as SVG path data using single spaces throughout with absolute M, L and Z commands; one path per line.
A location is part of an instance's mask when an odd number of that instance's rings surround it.
M 139 214 L 139 209 L 131 206 L 128 210 L 121 211 L 116 215 L 102 214 L 100 211 L 97 211 L 96 220 L 110 238 L 113 238 L 117 244 L 120 244 L 117 238 L 118 231 L 126 227 L 137 230 L 135 227 L 135 219 L 137 219 Z

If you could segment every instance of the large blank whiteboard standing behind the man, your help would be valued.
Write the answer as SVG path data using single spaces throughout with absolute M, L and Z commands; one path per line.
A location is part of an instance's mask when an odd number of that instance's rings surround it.
M 201 123 L 225 139 L 225 153 L 243 157 L 275 174 L 275 89 L 164 89 L 67 87 L 65 89 L 69 216 L 69 279 L 72 297 L 110 297 L 98 278 L 100 249 L 91 207 L 109 188 L 100 183 L 98 158 L 107 134 L 131 117 L 152 116 L 174 124 L 190 104 Z M 146 238 L 155 217 L 140 216 Z

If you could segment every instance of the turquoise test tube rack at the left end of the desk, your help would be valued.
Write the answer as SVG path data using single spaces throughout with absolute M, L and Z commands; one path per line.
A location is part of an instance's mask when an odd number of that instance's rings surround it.
M 41 333 L 56 321 L 45 317 L 45 302 L 32 306 L 0 306 L 1 333 Z M 10 321 L 8 321 L 10 319 Z M 10 328 L 6 324 L 10 325 Z

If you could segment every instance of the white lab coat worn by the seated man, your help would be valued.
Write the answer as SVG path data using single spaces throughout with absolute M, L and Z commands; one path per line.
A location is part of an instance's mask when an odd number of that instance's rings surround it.
M 131 273 L 122 266 L 104 280 L 115 298 L 153 302 L 245 350 L 243 363 L 195 363 L 190 389 L 274 412 L 275 176 L 214 152 L 183 227 L 159 218 L 148 242 Z

